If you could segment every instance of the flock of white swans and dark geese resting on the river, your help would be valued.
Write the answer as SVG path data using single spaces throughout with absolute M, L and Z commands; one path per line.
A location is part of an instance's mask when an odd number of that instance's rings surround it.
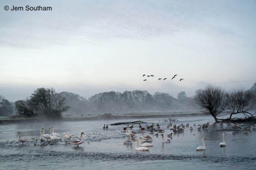
M 217 125 L 216 123 L 213 123 L 213 124 L 212 124 L 212 127 L 215 127 L 216 125 Z M 219 125 L 220 125 L 220 127 L 223 127 L 224 123 L 221 122 Z M 231 123 L 230 123 L 230 122 L 227 122 L 227 125 L 231 125 Z M 194 126 L 196 126 L 196 125 L 194 124 Z M 198 125 L 198 126 L 200 126 L 200 127 L 198 127 L 197 130 L 207 129 L 207 128 L 209 127 L 209 122 L 207 122 L 206 124 L 203 124 L 202 126 L 201 126 L 201 125 Z M 250 130 L 251 127 L 255 128 L 255 126 L 256 126 L 256 123 L 254 123 L 254 124 L 252 124 L 252 125 L 249 125 L 249 126 L 245 127 L 244 129 L 241 129 L 241 127 L 239 127 L 237 123 L 234 123 L 234 126 L 232 126 L 232 129 L 233 129 L 233 130 L 238 130 L 238 129 L 240 129 L 240 130 L 248 131 L 248 130 Z M 139 138 L 139 140 L 140 140 L 140 147 L 138 147 L 138 139 L 134 139 L 133 142 L 136 142 L 135 150 L 149 150 L 148 147 L 153 146 L 153 144 L 147 143 L 147 141 L 152 141 L 153 138 L 152 138 L 150 135 L 144 135 L 144 130 L 148 130 L 148 132 L 149 132 L 149 133 L 152 133 L 152 134 L 153 134 L 154 132 L 157 132 L 157 133 L 154 134 L 154 136 L 159 136 L 158 133 L 162 133 L 162 134 L 160 135 L 160 136 L 162 137 L 162 143 L 171 142 L 170 139 L 164 139 L 163 133 L 165 132 L 165 130 L 164 130 L 164 129 L 160 129 L 160 125 L 159 125 L 158 123 L 156 124 L 156 128 L 155 128 L 155 126 L 154 126 L 154 123 L 152 123 L 152 125 L 150 125 L 150 126 L 146 125 L 145 128 L 142 127 L 141 124 L 139 124 L 138 127 L 139 127 L 139 130 L 141 131 L 141 136 L 140 136 L 140 138 Z M 177 126 L 177 125 L 173 125 L 173 126 L 172 126 L 172 124 L 169 123 L 166 128 L 170 128 L 170 127 L 172 127 L 170 130 L 172 130 L 173 133 L 181 133 L 181 132 L 183 132 L 183 130 L 185 129 L 185 127 L 189 127 L 189 124 L 187 123 L 186 125 L 181 124 L 181 125 L 179 125 L 179 126 Z M 108 125 L 104 125 L 104 126 L 103 126 L 103 129 L 108 129 L 108 128 L 109 128 Z M 52 140 L 53 143 L 54 143 L 55 141 L 61 139 L 62 136 L 61 136 L 59 133 L 54 133 L 54 127 L 53 127 L 53 126 L 50 127 L 49 129 L 50 129 L 50 134 L 45 134 L 45 133 L 44 133 L 44 127 L 40 130 L 40 139 L 39 139 L 39 141 L 40 141 L 41 143 L 44 142 L 45 140 L 48 141 L 48 139 Z M 135 134 L 136 134 L 136 132 L 133 131 L 132 129 L 133 129 L 133 125 L 132 125 L 132 126 L 129 126 L 129 124 L 127 124 L 127 127 L 123 127 L 123 130 L 126 131 L 126 135 L 129 136 L 129 139 L 127 139 L 127 140 L 124 142 L 124 144 L 132 144 L 132 137 L 135 136 Z M 193 127 L 190 126 L 190 130 L 193 130 Z M 172 139 L 173 133 L 168 134 L 168 135 L 167 135 L 168 138 L 171 138 L 171 139 Z M 74 145 L 77 145 L 77 147 L 79 147 L 79 144 L 82 144 L 82 143 L 85 142 L 84 139 L 83 139 L 83 137 L 82 137 L 83 134 L 85 134 L 85 133 L 82 132 L 81 135 L 80 135 L 80 138 L 71 141 L 70 144 L 74 144 Z M 64 136 L 64 138 L 65 138 L 65 142 L 68 142 L 68 140 L 69 140 L 69 142 L 70 142 L 70 140 L 71 140 L 71 134 L 69 134 L 69 133 L 63 133 L 63 136 Z M 221 143 L 219 144 L 220 147 L 227 146 L 227 144 L 225 143 L 225 139 L 224 139 L 224 133 L 222 133 L 222 136 L 223 136 L 223 142 L 221 142 Z M 145 143 L 145 142 L 142 142 L 143 140 L 145 140 L 146 143 Z M 206 140 L 206 138 L 203 137 L 203 139 L 202 139 L 203 146 L 197 147 L 196 150 L 206 150 L 205 140 Z M 20 133 L 20 132 L 18 132 L 18 141 L 19 141 L 19 142 L 22 142 L 22 144 L 23 144 L 24 142 L 28 142 L 27 139 L 22 139 L 22 138 L 21 138 L 21 133 Z

